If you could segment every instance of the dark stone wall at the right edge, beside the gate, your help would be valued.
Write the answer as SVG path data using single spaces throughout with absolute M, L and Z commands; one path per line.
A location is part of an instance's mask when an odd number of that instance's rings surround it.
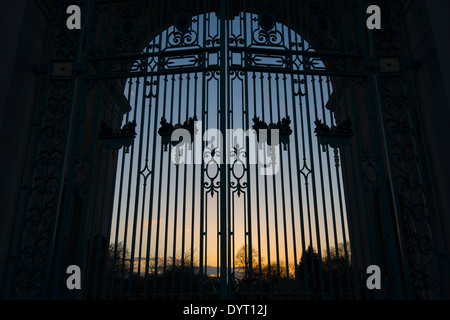
M 450 1 L 415 0 L 405 4 L 405 23 L 422 114 L 425 144 L 437 193 L 445 243 L 450 243 Z

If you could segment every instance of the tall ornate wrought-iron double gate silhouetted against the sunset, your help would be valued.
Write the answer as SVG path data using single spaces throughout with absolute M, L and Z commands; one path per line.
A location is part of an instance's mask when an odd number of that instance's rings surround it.
M 60 1 L 49 31 L 11 295 L 445 295 L 390 1 L 378 33 L 365 1 L 77 2 L 84 29 Z

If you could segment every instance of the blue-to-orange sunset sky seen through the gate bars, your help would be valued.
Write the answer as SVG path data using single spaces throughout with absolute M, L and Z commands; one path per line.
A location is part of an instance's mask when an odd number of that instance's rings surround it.
M 249 14 L 246 20 L 236 18 L 230 25 L 230 34 L 255 23 L 250 18 Z M 211 14 L 210 21 L 214 19 Z M 200 30 L 204 22 L 200 16 L 194 26 Z M 215 23 L 206 25 L 210 35 L 217 33 L 212 27 Z M 278 24 L 276 28 L 291 42 L 301 41 L 286 27 Z M 155 41 L 164 48 L 171 31 L 173 28 Z M 307 44 L 304 49 L 308 49 Z M 261 175 L 261 164 L 251 165 L 240 181 L 247 182 L 250 191 L 244 188 L 238 196 L 235 189 L 229 188 L 227 217 L 232 232 L 232 257 L 244 244 L 248 246 L 250 237 L 253 248 L 266 262 L 270 257 L 271 263 L 289 264 L 298 263 L 309 244 L 323 251 L 344 242 L 344 237 L 349 241 L 340 169 L 335 167 L 333 150 L 323 152 L 313 132 L 316 118 L 331 124 L 331 113 L 325 108 L 331 94 L 327 80 L 322 76 L 284 78 L 261 72 L 230 76 L 230 128 L 247 130 L 254 116 L 266 122 L 290 116 L 291 128 L 295 128 L 288 150 L 277 148 L 281 165 L 276 175 Z M 148 81 L 156 81 L 157 85 L 146 86 Z M 184 73 L 130 79 L 130 83 L 125 96 L 133 109 L 124 121 L 136 120 L 138 135 L 129 154 L 119 153 L 111 243 L 124 242 L 134 257 L 145 258 L 149 254 L 152 259 L 180 257 L 183 251 L 193 250 L 196 265 L 202 256 L 204 265 L 218 266 L 221 195 L 208 193 L 208 185 L 202 187 L 202 165 L 180 165 L 177 169 L 171 162 L 173 148 L 162 151 L 157 131 L 163 116 L 175 124 L 197 115 L 204 125 L 198 128 L 201 132 L 218 128 L 219 77 Z M 154 97 L 144 97 L 150 88 Z M 299 91 L 308 94 L 296 94 Z M 205 142 L 205 146 L 210 143 Z M 154 171 L 150 174 L 152 165 Z M 211 183 L 208 174 L 214 176 L 217 166 L 211 164 L 204 169 L 203 183 Z M 237 166 L 234 173 L 240 176 L 242 167 Z M 231 186 L 237 180 L 231 171 L 229 174 Z M 218 177 L 214 183 L 218 183 Z M 202 252 L 201 216 L 205 228 Z

